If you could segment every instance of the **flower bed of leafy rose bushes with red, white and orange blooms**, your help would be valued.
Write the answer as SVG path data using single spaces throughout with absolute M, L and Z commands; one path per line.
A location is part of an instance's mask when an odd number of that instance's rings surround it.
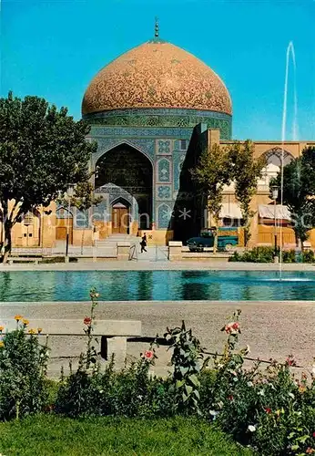
M 261 368 L 243 367 L 249 347 L 238 348 L 240 311 L 221 328 L 227 335 L 223 355 L 208 357 L 184 322 L 168 328 L 164 337 L 172 350 L 168 378 L 149 375 L 158 358 L 158 345 L 137 362 L 116 371 L 115 359 L 100 371 L 92 345 L 98 294 L 91 292 L 91 313 L 84 319 L 86 353 L 79 366 L 59 382 L 46 378 L 47 347 L 39 332 L 15 316 L 16 330 L 0 342 L 0 419 L 36 412 L 66 417 L 120 416 L 172 418 L 178 415 L 207 420 L 242 445 L 262 455 L 315 453 L 315 366 L 298 377 L 295 361 L 271 361 Z

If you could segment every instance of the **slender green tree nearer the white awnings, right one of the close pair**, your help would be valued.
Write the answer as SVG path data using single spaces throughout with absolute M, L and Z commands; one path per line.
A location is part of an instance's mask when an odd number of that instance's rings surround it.
M 251 140 L 237 142 L 229 150 L 232 162 L 235 196 L 239 201 L 244 222 L 244 243 L 247 246 L 250 238 L 250 222 L 255 212 L 250 209 L 250 202 L 257 192 L 257 181 L 265 166 L 265 159 L 254 159 L 254 144 Z

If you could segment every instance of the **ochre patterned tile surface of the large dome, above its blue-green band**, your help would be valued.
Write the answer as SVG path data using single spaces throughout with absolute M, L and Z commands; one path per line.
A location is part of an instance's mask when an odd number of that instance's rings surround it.
M 82 113 L 111 109 L 199 109 L 231 114 L 229 91 L 197 57 L 147 42 L 113 60 L 86 89 Z

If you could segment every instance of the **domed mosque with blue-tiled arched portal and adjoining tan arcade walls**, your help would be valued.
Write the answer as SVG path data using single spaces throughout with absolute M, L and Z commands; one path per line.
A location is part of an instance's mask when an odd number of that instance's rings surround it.
M 149 244 L 185 242 L 208 225 L 192 192 L 189 169 L 198 147 L 232 140 L 232 100 L 224 82 L 208 65 L 159 37 L 117 57 L 86 88 L 82 117 L 91 126 L 86 140 L 97 141 L 91 171 L 102 201 L 86 213 L 56 206 L 39 209 L 15 226 L 15 246 L 93 245 L 108 236 L 147 233 Z M 315 142 L 287 141 L 284 163 Z M 254 141 L 266 167 L 252 201 L 251 245 L 273 243 L 274 207 L 269 180 L 280 169 L 278 141 Z M 198 208 L 198 211 L 196 210 Z M 282 243 L 294 244 L 290 213 L 276 208 Z M 197 213 L 198 212 L 198 213 Z M 224 190 L 221 224 L 239 229 L 242 215 L 233 184 Z M 315 246 L 312 236 L 310 241 Z

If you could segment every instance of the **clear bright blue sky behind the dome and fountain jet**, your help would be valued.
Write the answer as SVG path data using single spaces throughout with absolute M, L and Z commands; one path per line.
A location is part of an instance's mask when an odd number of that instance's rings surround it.
M 0 0 L 1 1 L 1 0 Z M 297 58 L 299 139 L 315 140 L 315 1 L 2 0 L 1 96 L 38 95 L 80 118 L 97 71 L 154 34 L 201 58 L 233 102 L 233 138 L 279 140 L 286 48 Z M 290 65 L 287 140 L 292 139 Z

